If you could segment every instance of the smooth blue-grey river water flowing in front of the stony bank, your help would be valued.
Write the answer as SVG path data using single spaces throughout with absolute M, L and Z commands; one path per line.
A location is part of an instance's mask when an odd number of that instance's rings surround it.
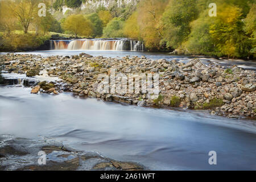
M 255 121 L 0 86 L 0 135 L 47 137 L 150 169 L 256 169 Z M 217 165 L 208 163 L 217 152 Z

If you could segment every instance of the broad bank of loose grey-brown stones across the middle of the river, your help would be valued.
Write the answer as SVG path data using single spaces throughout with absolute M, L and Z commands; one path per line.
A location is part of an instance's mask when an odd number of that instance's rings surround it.
M 30 77 L 47 73 L 50 77 L 60 78 L 57 82 L 37 82 L 31 93 L 59 94 L 66 91 L 81 97 L 139 106 L 207 109 L 211 114 L 229 118 L 256 118 L 255 71 L 245 71 L 236 66 L 226 69 L 216 64 L 205 65 L 199 59 L 181 63 L 176 60 L 150 60 L 144 56 L 122 59 L 92 57 L 85 53 L 72 57 L 9 53 L 0 55 L 0 61 L 7 72 L 26 73 Z M 158 73 L 159 95 L 99 93 L 98 85 L 104 80 L 98 80 L 98 76 L 110 76 L 110 69 L 115 69 L 115 75 Z M 116 85 L 121 83 L 115 79 Z

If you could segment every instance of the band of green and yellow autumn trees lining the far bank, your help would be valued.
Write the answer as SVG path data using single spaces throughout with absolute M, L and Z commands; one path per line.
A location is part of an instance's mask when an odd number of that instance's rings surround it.
M 38 3 L 42 2 L 55 12 L 39 17 Z M 91 38 L 127 37 L 142 40 L 146 49 L 154 51 L 176 49 L 228 59 L 256 57 L 255 0 L 216 0 L 217 16 L 209 16 L 209 0 L 140 0 L 137 5 L 110 3 L 81 10 L 83 2 L 86 0 L 0 1 L 0 49 L 37 47 L 32 40 L 58 32 Z M 71 10 L 63 14 L 63 6 Z M 24 38 L 17 30 L 23 31 Z M 11 43 L 14 39 L 18 40 Z

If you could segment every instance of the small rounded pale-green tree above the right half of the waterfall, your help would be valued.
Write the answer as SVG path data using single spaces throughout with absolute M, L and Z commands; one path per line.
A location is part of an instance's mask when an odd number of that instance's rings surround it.
M 113 18 L 103 30 L 105 38 L 121 38 L 123 37 L 123 20 Z

